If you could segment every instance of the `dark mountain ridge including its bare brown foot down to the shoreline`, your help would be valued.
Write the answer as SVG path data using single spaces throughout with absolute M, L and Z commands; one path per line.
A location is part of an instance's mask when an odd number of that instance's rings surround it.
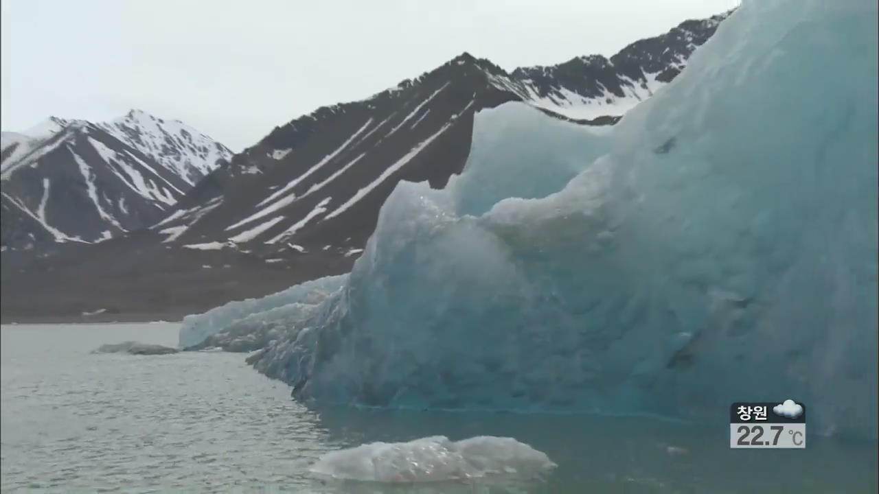
M 461 172 L 476 112 L 521 101 L 612 124 L 677 76 L 727 15 L 686 21 L 609 59 L 506 72 L 465 53 L 370 98 L 318 108 L 221 163 L 148 229 L 4 252 L 4 321 L 97 309 L 106 310 L 85 318 L 178 318 L 347 272 L 400 180 L 442 187 Z

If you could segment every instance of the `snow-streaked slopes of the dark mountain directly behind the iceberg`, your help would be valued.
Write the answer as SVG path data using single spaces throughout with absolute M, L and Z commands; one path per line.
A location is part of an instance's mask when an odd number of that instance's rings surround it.
M 727 15 L 686 21 L 609 59 L 506 72 L 461 54 L 371 98 L 276 127 L 188 194 L 156 232 L 166 243 L 356 252 L 398 181 L 441 187 L 461 171 L 474 113 L 524 101 L 564 120 L 612 124 L 672 81 Z

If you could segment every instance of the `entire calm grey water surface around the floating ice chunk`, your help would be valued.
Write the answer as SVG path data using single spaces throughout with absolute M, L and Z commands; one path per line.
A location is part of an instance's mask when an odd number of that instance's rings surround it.
M 131 492 L 875 492 L 875 443 L 730 450 L 729 425 L 633 418 L 308 410 L 243 355 L 90 354 L 177 324 L 2 327 L 2 490 Z M 718 406 L 727 406 L 719 403 Z M 375 440 L 509 436 L 548 454 L 546 479 L 498 485 L 327 482 L 323 453 Z M 675 449 L 677 448 L 677 449 Z

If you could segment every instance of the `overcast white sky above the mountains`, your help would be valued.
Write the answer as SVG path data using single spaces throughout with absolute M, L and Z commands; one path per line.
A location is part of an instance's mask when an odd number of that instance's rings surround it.
M 461 52 L 504 69 L 611 55 L 738 0 L 2 0 L 2 122 L 183 120 L 239 151 Z

